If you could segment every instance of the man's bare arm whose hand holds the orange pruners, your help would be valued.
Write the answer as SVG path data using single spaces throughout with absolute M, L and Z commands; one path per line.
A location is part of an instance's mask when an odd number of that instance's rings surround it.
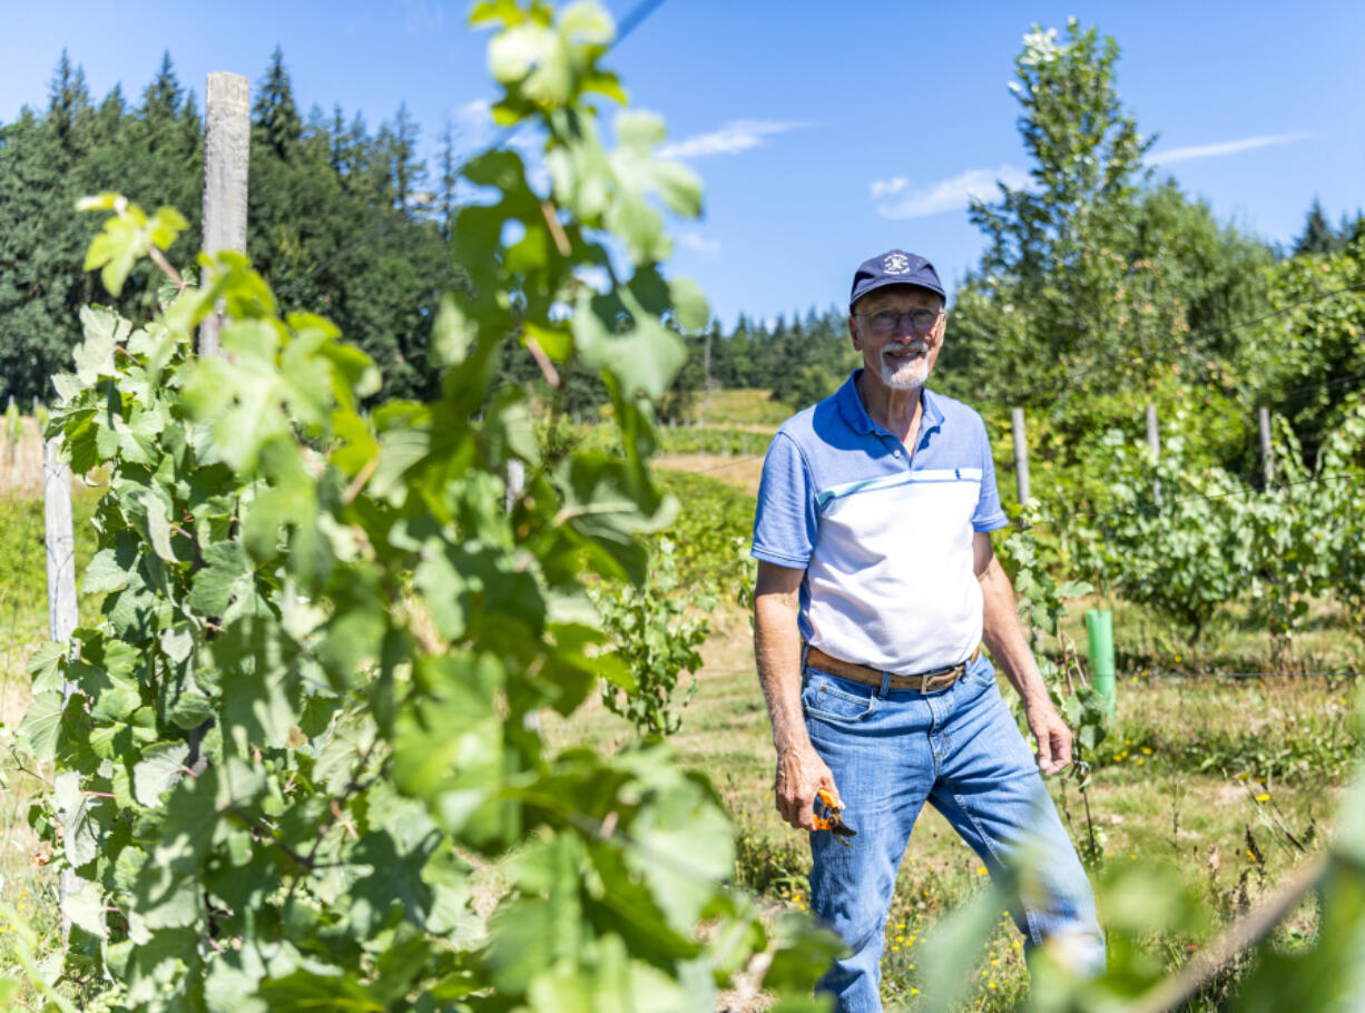
M 759 561 L 753 591 L 753 658 L 773 722 L 777 750 L 777 811 L 797 829 L 814 830 L 812 804 L 820 788 L 838 799 L 834 775 L 815 752 L 801 714 L 801 633 L 797 627 L 805 572 Z

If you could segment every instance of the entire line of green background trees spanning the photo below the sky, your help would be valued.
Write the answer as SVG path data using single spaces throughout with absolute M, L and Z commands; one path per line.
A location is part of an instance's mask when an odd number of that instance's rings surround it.
M 953 296 L 936 385 L 973 403 L 1046 411 L 1058 453 L 1073 464 L 1088 434 L 1132 416 L 1129 401 L 1189 384 L 1212 401 L 1289 414 L 1316 448 L 1354 389 L 1349 377 L 1365 371 L 1351 333 L 1365 299 L 1357 292 L 1327 307 L 1309 332 L 1286 333 L 1283 319 L 1244 325 L 1324 295 L 1324 270 L 1346 287 L 1360 280 L 1365 220 L 1334 227 L 1314 198 L 1289 251 L 1219 223 L 1144 162 L 1155 135 L 1122 105 L 1118 44 L 1074 22 L 1066 33 L 1061 41 L 1035 33 L 1017 60 L 1032 180 L 971 209 L 987 244 Z M 465 276 L 449 244 L 461 164 L 450 128 L 433 172 L 403 106 L 375 131 L 340 106 L 304 116 L 278 49 L 254 94 L 254 265 L 284 306 L 334 319 L 378 363 L 378 399 L 430 396 L 434 313 Z M 198 248 L 202 138 L 194 93 L 169 55 L 135 102 L 119 87 L 94 102 L 63 52 L 48 108 L 25 108 L 0 126 L 0 399 L 48 400 L 48 378 L 71 360 L 76 309 L 102 298 L 79 269 L 91 225 L 71 213 L 78 197 L 116 188 L 147 206 L 169 203 L 190 218 L 184 248 Z M 1314 273 L 1305 266 L 1314 259 L 1334 266 Z M 145 318 L 154 289 L 139 270 L 115 309 Z M 1324 319 L 1327 332 L 1317 328 Z M 665 418 L 687 414 L 707 385 L 766 389 L 801 407 L 859 362 L 838 306 L 775 321 L 740 315 L 732 328 L 713 321 L 684 339 L 688 360 L 661 404 Z M 516 343 L 500 371 L 509 382 L 542 382 Z M 591 371 L 571 367 L 564 380 L 556 396 L 573 415 L 606 400 Z

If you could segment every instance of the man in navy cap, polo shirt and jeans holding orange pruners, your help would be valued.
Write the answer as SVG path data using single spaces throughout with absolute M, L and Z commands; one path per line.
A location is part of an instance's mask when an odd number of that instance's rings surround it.
M 886 915 L 925 801 L 992 875 L 1028 849 L 1032 885 L 1011 909 L 1029 945 L 1059 937 L 1082 969 L 1104 962 L 1089 882 L 1040 777 L 1070 763 L 1072 733 L 991 550 L 1006 519 L 986 426 L 924 386 L 945 302 L 923 257 L 891 250 L 857 269 L 863 369 L 778 430 L 753 524 L 777 808 L 812 831 L 811 909 L 850 950 L 820 990 L 844 1013 L 880 1009 Z M 983 640 L 1024 700 L 1035 755 Z M 856 836 L 816 830 L 820 789 Z

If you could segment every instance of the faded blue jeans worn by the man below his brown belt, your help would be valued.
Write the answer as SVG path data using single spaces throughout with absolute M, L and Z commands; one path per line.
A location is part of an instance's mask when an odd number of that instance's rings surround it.
M 1081 969 L 1103 969 L 1104 935 L 1085 870 L 984 655 L 951 687 L 927 694 L 882 694 L 807 666 L 801 706 L 857 830 L 852 848 L 829 830 L 811 834 L 811 911 L 852 950 L 818 986 L 837 997 L 839 1013 L 882 1009 L 886 915 L 925 800 L 992 876 L 1028 849 L 1025 896 L 1010 904 L 1026 943 L 1065 938 Z

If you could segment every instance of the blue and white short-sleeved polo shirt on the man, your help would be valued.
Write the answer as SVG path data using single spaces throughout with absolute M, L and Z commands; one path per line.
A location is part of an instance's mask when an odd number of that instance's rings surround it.
M 898 674 L 957 665 L 981 640 L 972 535 L 1006 524 L 986 423 L 924 389 L 912 456 L 868 416 L 859 373 L 773 438 L 752 554 L 805 571 L 812 647 Z

